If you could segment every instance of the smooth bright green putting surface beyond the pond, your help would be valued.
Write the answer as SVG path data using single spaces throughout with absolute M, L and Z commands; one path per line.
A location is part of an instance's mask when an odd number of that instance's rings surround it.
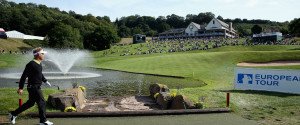
M 172 53 L 148 56 L 105 57 L 96 59 L 97 68 L 147 74 L 182 76 L 213 82 L 214 88 L 231 85 L 239 62 L 300 60 L 300 51 L 229 51 Z

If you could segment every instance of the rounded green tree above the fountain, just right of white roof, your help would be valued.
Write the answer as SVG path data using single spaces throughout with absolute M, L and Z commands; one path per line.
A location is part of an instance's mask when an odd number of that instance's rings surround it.
M 49 31 L 47 38 L 50 47 L 83 48 L 79 30 L 63 23 L 55 24 Z

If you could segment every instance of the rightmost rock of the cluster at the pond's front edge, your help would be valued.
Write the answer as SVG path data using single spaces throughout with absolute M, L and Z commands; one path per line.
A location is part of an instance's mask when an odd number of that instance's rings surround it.
M 189 100 L 186 96 L 176 95 L 173 98 L 170 109 L 193 109 L 195 108 L 194 103 Z

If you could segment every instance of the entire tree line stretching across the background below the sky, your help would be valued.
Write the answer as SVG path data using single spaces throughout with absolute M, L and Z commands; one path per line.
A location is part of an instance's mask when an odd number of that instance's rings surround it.
M 0 0 L 0 27 L 7 31 L 17 30 L 25 34 L 46 36 L 45 44 L 54 48 L 84 48 L 103 50 L 122 37 L 134 34 L 157 36 L 172 28 L 185 28 L 190 22 L 208 24 L 215 15 L 211 12 L 188 14 L 186 17 L 171 14 L 159 16 L 131 15 L 117 18 L 114 22 L 108 16 L 81 15 L 74 11 L 61 11 L 34 3 L 15 3 Z M 251 28 L 259 25 L 263 30 L 281 31 L 284 34 L 299 35 L 299 19 L 291 22 L 269 20 L 223 19 L 232 22 L 240 36 L 252 34 Z M 297 33 L 298 32 L 298 33 Z

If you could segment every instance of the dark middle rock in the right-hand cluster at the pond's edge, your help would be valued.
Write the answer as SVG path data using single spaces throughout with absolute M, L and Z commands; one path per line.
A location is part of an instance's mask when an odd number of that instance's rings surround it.
M 161 107 L 161 109 L 169 109 L 172 103 L 172 96 L 168 92 L 161 92 L 157 95 L 156 103 Z

